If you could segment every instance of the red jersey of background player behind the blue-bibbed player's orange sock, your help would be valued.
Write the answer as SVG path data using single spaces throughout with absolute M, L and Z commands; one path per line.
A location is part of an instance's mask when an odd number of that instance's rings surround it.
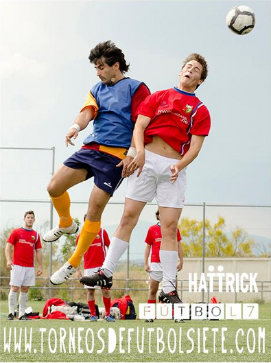
M 80 233 L 76 238 L 78 244 Z M 110 239 L 105 229 L 99 230 L 99 235 L 94 239 L 89 249 L 84 254 L 84 269 L 101 267 L 106 258 L 106 248 L 110 245 Z

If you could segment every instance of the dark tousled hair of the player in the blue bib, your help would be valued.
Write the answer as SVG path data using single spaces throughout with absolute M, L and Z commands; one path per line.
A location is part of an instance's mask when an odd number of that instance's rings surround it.
M 110 67 L 119 62 L 119 70 L 121 73 L 125 73 L 129 69 L 129 64 L 126 63 L 125 56 L 121 49 L 115 46 L 112 40 L 107 40 L 106 42 L 99 43 L 95 48 L 91 49 L 89 54 L 89 60 L 94 65 L 97 62 L 101 62 L 101 58 L 106 60 L 106 64 Z

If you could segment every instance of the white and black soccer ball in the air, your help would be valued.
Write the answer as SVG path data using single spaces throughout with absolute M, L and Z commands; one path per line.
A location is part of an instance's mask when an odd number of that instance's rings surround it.
M 236 34 L 248 34 L 254 28 L 255 14 L 246 5 L 235 6 L 226 16 L 226 24 Z

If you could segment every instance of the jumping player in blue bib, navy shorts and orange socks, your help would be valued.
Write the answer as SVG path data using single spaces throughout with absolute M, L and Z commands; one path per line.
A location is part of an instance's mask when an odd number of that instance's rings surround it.
M 86 137 L 82 148 L 64 161 L 51 178 L 47 190 L 60 220 L 56 228 L 44 235 L 45 242 L 54 242 L 63 234 L 78 231 L 77 224 L 71 218 L 67 189 L 91 177 L 94 177 L 95 185 L 75 253 L 51 276 L 50 281 L 54 285 L 64 283 L 80 266 L 84 253 L 99 233 L 108 200 L 122 178 L 129 175 L 127 167 L 134 156 L 134 149 L 129 151 L 129 148 L 137 108 L 150 95 L 143 82 L 124 76 L 129 65 L 121 49 L 110 40 L 93 48 L 89 60 L 100 82 L 93 86 L 80 114 L 69 128 L 66 144 L 74 145 L 72 140 L 91 120 L 94 120 L 93 132 Z

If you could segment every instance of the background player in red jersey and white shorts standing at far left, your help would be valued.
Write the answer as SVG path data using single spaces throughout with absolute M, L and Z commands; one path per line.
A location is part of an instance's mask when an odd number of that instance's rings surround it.
M 38 261 L 36 274 L 43 273 L 43 254 L 40 236 L 32 226 L 35 222 L 34 211 L 27 211 L 24 215 L 25 225 L 14 229 L 8 237 L 5 246 L 7 267 L 10 269 L 10 293 L 8 294 L 8 320 L 14 319 L 14 309 L 17 300 L 17 292 L 21 288 L 19 296 L 19 318 L 28 320 L 24 315 L 30 286 L 35 285 L 34 251 Z M 13 259 L 12 255 L 13 248 Z

